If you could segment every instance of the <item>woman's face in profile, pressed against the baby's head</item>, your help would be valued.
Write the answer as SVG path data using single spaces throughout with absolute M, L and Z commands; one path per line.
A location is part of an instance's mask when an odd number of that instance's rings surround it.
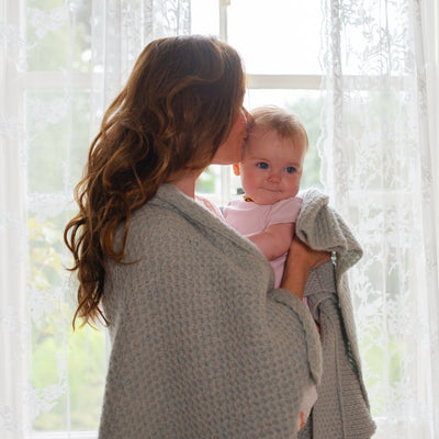
M 241 160 L 243 147 L 248 135 L 250 123 L 251 115 L 243 106 L 228 137 L 224 144 L 219 146 L 213 157 L 212 165 L 233 165 Z

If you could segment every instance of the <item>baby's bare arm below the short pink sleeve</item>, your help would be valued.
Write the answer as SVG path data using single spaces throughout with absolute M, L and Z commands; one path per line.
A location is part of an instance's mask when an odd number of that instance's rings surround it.
M 262 232 L 246 235 L 246 238 L 256 244 L 268 260 L 273 260 L 290 249 L 294 230 L 295 223 L 272 224 Z

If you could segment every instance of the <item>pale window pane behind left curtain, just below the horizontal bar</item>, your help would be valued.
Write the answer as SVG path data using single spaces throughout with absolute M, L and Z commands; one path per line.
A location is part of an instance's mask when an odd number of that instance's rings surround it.
M 26 93 L 31 193 L 58 192 L 79 181 L 89 149 L 89 101 L 88 91 Z

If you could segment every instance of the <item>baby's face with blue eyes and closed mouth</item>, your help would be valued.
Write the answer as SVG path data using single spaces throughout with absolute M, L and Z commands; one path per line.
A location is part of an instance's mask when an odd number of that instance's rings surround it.
M 305 157 L 304 145 L 297 143 L 274 130 L 251 131 L 243 161 L 234 166 L 247 196 L 258 204 L 273 204 L 297 194 Z

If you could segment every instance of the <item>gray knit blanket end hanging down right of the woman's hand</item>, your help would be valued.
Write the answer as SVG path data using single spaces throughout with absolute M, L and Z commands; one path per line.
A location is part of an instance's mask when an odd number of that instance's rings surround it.
M 328 205 L 328 196 L 311 189 L 301 194 L 297 237 L 336 259 L 311 272 L 304 295 L 322 333 L 323 378 L 317 402 L 300 439 L 369 439 L 375 425 L 361 372 L 353 309 L 346 271 L 362 257 L 356 237 Z

